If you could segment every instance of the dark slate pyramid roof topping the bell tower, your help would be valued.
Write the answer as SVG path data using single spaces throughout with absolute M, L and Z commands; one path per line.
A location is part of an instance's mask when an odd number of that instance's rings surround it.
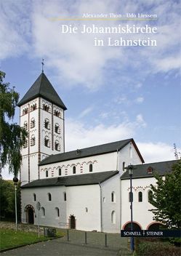
M 57 95 L 57 92 L 50 83 L 49 79 L 47 79 L 47 76 L 45 76 L 43 72 L 39 78 L 36 79 L 31 88 L 28 89 L 28 92 L 26 92 L 24 97 L 17 105 L 20 107 L 21 105 L 28 103 L 28 101 L 33 100 L 36 97 L 43 97 L 45 100 L 49 100 L 51 103 L 54 103 L 60 108 L 63 108 L 64 110 L 67 109 L 63 104 L 63 101 Z

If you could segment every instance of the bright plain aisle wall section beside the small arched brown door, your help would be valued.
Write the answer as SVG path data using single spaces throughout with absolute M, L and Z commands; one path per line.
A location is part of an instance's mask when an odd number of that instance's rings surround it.
M 76 229 L 100 231 L 100 187 L 79 185 L 67 187 L 67 220 L 76 218 Z

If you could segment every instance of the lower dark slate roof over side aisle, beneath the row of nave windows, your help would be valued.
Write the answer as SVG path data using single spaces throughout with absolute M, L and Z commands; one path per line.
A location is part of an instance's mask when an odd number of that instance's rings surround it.
M 49 187 L 64 185 L 66 187 L 73 185 L 93 185 L 102 183 L 105 180 L 110 179 L 114 175 L 117 175 L 118 171 L 109 172 L 94 172 L 84 175 L 70 175 L 63 177 L 52 177 L 41 180 L 33 180 L 31 183 L 23 185 L 21 188 L 36 188 L 36 187 Z

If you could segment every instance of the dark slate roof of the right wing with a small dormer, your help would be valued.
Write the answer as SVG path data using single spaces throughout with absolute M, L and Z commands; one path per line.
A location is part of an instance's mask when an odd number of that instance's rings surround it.
M 153 177 L 154 172 L 158 172 L 158 175 L 164 176 L 166 172 L 172 171 L 172 165 L 176 164 L 177 160 L 172 161 L 160 161 L 156 163 L 149 164 L 137 164 L 133 167 L 133 175 L 132 179 L 142 178 L 142 177 Z M 152 173 L 148 173 L 148 168 L 151 167 L 153 169 Z M 121 180 L 129 180 L 128 170 L 121 175 Z

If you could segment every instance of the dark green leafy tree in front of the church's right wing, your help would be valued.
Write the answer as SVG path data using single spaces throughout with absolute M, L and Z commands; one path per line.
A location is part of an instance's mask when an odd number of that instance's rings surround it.
M 153 196 L 150 203 L 155 209 L 150 209 L 154 220 L 160 221 L 168 228 L 181 228 L 181 160 L 172 166 L 165 178 L 155 175 L 156 186 L 151 185 Z

